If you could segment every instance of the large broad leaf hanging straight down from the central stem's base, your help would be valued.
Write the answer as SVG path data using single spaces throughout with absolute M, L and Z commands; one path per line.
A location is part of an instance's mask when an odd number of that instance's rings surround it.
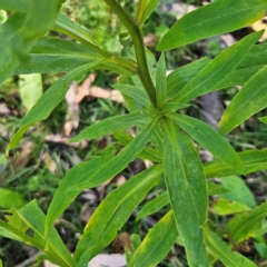
M 176 226 L 192 267 L 208 266 L 202 225 L 207 220 L 208 190 L 191 139 L 170 120 L 164 121 L 165 180 Z

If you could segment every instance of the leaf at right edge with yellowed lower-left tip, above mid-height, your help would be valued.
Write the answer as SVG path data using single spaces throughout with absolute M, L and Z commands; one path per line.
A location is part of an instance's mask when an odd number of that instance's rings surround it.
M 267 107 L 266 77 L 267 66 L 253 76 L 231 100 L 219 122 L 222 136 Z

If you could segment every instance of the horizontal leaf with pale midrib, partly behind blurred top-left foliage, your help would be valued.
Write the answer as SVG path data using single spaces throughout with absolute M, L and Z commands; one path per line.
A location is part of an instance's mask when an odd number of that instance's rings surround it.
M 77 42 L 44 37 L 37 41 L 30 58 L 22 61 L 14 73 L 65 72 L 105 57 Z

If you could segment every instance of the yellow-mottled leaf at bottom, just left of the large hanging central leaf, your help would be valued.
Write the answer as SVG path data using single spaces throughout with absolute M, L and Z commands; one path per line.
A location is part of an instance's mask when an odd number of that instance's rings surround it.
M 148 235 L 134 254 L 129 267 L 155 267 L 170 251 L 178 231 L 172 210 L 149 230 Z M 199 265 L 200 266 L 200 265 Z

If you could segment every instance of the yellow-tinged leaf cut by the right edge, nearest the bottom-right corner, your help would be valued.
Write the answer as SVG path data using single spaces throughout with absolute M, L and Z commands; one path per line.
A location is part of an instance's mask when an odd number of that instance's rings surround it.
M 256 237 L 267 216 L 267 202 L 255 207 L 251 211 L 237 215 L 227 224 L 231 239 L 238 244 L 249 237 Z

